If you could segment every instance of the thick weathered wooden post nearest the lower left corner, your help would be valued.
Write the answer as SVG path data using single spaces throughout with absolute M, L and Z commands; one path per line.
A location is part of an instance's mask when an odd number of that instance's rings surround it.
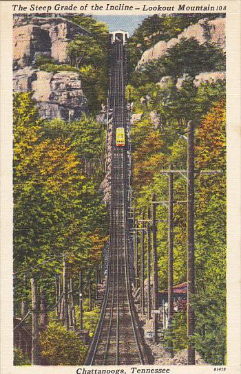
M 32 365 L 39 365 L 39 298 L 34 277 L 31 278 L 32 293 Z

